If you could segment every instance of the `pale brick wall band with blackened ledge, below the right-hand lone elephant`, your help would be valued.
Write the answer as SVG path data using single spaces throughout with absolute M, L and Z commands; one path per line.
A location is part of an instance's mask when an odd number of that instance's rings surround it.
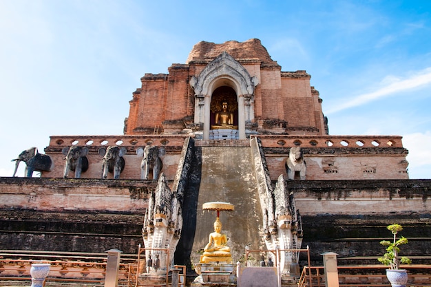
M 430 214 L 431 180 L 287 182 L 302 215 Z

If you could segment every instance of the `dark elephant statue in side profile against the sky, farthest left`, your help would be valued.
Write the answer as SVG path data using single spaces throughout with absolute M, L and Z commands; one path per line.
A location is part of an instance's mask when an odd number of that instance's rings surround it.
M 15 163 L 14 175 L 17 174 L 19 162 L 25 162 L 25 176 L 31 178 L 33 176 L 33 171 L 50 171 L 52 168 L 52 160 L 50 156 L 43 153 L 39 153 L 37 147 L 30 147 L 30 149 L 25 149 L 25 151 L 19 153 L 18 158 L 13 161 Z

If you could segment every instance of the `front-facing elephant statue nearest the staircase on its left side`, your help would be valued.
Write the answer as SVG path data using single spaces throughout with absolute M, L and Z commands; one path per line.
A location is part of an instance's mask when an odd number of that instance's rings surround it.
M 140 162 L 140 179 L 147 180 L 149 171 L 153 172 L 153 180 L 157 180 L 162 170 L 163 163 L 160 156 L 165 155 L 165 149 L 154 145 L 147 145 L 145 148 L 139 147 L 136 149 L 138 156 L 144 156 Z

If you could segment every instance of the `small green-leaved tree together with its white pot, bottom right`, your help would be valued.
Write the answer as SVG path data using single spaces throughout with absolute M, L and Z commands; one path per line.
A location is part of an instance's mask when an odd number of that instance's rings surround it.
M 386 269 L 386 277 L 388 277 L 390 284 L 394 287 L 405 287 L 407 283 L 407 270 L 400 269 L 399 264 L 410 264 L 412 260 L 408 259 L 408 257 L 399 257 L 399 246 L 407 244 L 408 240 L 403 236 L 397 240 L 397 233 L 403 230 L 403 226 L 391 224 L 387 228 L 394 235 L 394 239 L 392 242 L 388 240 L 380 242 L 381 245 L 386 246 L 386 253 L 383 254 L 383 257 L 379 257 L 378 260 L 382 264 L 389 266 L 389 269 Z

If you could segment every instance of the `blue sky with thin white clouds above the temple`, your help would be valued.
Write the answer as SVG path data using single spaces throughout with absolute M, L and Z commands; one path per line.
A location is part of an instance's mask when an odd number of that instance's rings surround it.
M 410 178 L 431 178 L 428 0 L 1 0 L 0 35 L 0 176 L 50 136 L 123 134 L 140 77 L 196 43 L 257 38 L 311 74 L 330 134 L 403 136 Z

